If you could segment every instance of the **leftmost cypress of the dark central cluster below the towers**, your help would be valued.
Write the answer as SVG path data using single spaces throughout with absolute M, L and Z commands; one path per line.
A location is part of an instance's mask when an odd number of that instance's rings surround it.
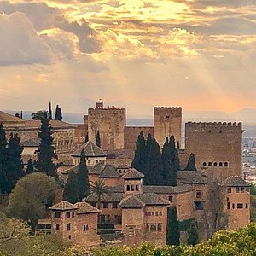
M 143 131 L 141 131 L 137 137 L 136 148 L 134 152 L 134 158 L 131 163 L 131 167 L 137 169 L 137 171 L 139 172 L 144 173 L 146 160 L 146 142 L 143 135 Z

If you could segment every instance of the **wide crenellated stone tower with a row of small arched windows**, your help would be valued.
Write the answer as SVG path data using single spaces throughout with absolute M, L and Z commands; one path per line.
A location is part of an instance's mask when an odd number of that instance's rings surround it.
M 222 181 L 241 176 L 241 123 L 187 123 L 186 152 L 196 168 Z

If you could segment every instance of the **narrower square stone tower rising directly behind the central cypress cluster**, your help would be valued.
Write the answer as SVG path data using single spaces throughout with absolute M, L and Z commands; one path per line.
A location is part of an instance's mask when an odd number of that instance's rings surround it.
M 182 108 L 154 107 L 154 137 L 163 147 L 166 137 L 175 137 L 180 142 L 182 127 Z

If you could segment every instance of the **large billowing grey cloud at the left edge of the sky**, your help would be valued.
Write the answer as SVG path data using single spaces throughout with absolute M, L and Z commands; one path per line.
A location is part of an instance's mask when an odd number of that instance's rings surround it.
M 53 55 L 23 13 L 0 15 L 0 66 L 49 64 Z

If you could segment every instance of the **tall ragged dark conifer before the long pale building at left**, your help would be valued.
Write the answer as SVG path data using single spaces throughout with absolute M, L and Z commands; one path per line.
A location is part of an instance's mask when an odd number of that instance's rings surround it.
M 45 172 L 47 175 L 57 178 L 57 166 L 53 163 L 56 155 L 55 148 L 52 146 L 52 128 L 49 126 L 47 113 L 44 113 L 44 119 L 41 120 L 38 137 L 41 139 L 41 143 L 38 147 L 38 161 L 35 167 L 39 172 Z

